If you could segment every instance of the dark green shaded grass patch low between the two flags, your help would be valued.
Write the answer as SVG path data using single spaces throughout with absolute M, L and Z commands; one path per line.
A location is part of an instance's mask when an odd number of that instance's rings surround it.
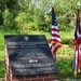
M 71 59 L 59 58 L 56 65 L 59 71 L 58 72 L 59 76 L 72 76 L 72 60 Z

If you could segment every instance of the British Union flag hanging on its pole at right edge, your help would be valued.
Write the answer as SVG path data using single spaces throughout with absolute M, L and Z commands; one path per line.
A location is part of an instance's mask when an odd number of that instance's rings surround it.
M 80 60 L 81 60 L 81 24 L 80 24 L 80 10 L 78 10 L 77 25 L 75 31 L 75 58 L 73 58 L 73 76 L 80 72 Z

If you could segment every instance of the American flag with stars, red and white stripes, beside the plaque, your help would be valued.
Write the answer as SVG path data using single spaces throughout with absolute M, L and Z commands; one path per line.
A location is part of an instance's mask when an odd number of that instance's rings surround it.
M 52 29 L 51 29 L 50 49 L 55 62 L 56 62 L 56 51 L 60 48 L 60 45 L 62 41 L 56 22 L 56 15 L 54 13 L 54 8 L 52 8 Z

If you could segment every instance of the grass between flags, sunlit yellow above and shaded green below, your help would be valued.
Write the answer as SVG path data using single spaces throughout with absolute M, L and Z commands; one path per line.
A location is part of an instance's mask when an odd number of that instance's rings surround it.
M 64 44 L 57 51 L 57 67 L 59 75 L 72 76 L 73 49 Z

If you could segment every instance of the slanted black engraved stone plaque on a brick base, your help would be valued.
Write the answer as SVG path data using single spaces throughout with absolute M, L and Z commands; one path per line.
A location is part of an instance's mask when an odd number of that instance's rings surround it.
M 45 36 L 6 35 L 4 40 L 13 76 L 58 72 Z

